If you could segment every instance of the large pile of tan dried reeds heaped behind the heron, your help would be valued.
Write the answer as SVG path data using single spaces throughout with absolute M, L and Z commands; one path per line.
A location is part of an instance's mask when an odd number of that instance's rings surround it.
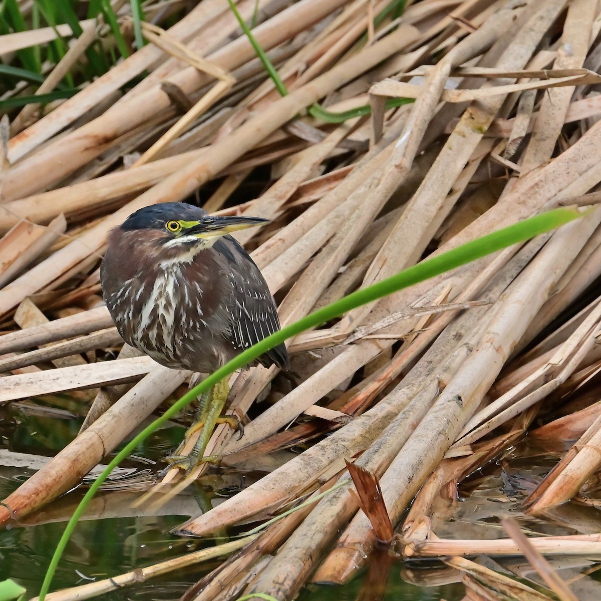
M 227 3 L 203 0 L 168 31 L 144 25 L 147 46 L 48 114 L 13 118 L 0 175 L 0 313 L 14 331 L 0 337 L 0 402 L 97 394 L 95 421 L 4 500 L 2 522 L 78 484 L 188 376 L 127 347 L 114 361 L 82 356 L 119 344 L 98 268 L 106 233 L 133 210 L 200 190 L 207 210 L 272 219 L 238 237 L 254 248 L 287 324 L 424 255 L 575 198 L 599 202 L 587 195 L 601 181 L 597 0 L 407 1 L 400 17 L 389 11 L 374 25 L 388 4 L 240 0 L 246 19 L 258 9 L 254 34 L 290 92 L 284 97 Z M 387 97 L 415 103 L 389 109 Z M 330 113 L 370 105 L 371 114 L 333 124 L 331 115 L 305 112 L 314 102 Z M 232 206 L 261 165 L 270 166 L 269 187 Z M 352 459 L 379 477 L 393 525 L 411 507 L 397 529 L 404 557 L 523 550 L 518 534 L 516 543 L 439 540 L 430 512 L 441 490 L 559 407 L 564 416 L 535 433 L 577 442 L 527 511 L 578 495 L 585 502 L 582 486 L 601 465 L 601 299 L 591 292 L 601 275 L 600 223 L 595 207 L 555 233 L 291 340 L 302 381 L 249 421 L 241 440 L 219 426 L 207 452 L 235 467 L 317 442 L 280 454 L 282 465 L 178 532 L 207 535 L 342 484 L 251 540 L 149 570 L 239 549 L 190 597 L 207 601 L 252 591 L 291 598 L 309 579 L 346 581 L 376 543 L 347 472 Z M 244 419 L 274 376 L 261 367 L 236 374 L 230 412 Z M 169 473 L 145 502 L 187 484 L 177 480 Z M 591 555 L 601 551 L 599 537 L 533 544 Z M 469 599 L 496 598 L 478 588 L 487 576 L 471 571 L 475 564 L 450 561 L 465 571 Z M 138 578 L 52 598 L 87 598 Z

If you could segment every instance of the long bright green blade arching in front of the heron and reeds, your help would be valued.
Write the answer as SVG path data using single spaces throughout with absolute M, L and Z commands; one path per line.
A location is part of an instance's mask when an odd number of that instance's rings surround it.
M 472 240 L 472 242 L 458 246 L 457 248 L 445 252 L 438 257 L 421 261 L 421 263 L 409 267 L 408 269 L 404 269 L 391 278 L 384 279 L 376 284 L 368 286 L 367 288 L 363 288 L 362 290 L 357 290 L 352 294 L 343 297 L 340 299 L 340 301 L 334 302 L 331 305 L 327 305 L 322 309 L 314 311 L 297 322 L 282 328 L 279 332 L 275 332 L 275 334 L 270 335 L 260 343 L 257 343 L 250 349 L 240 353 L 240 355 L 236 356 L 230 362 L 225 364 L 224 367 L 219 368 L 217 371 L 204 379 L 203 382 L 201 382 L 198 386 L 195 386 L 195 388 L 192 388 L 190 391 L 188 391 L 185 395 L 183 395 L 182 398 L 180 398 L 180 400 L 177 401 L 177 403 L 174 403 L 171 407 L 169 407 L 169 409 L 167 409 L 162 416 L 153 421 L 150 426 L 147 426 L 144 430 L 142 430 L 142 432 L 135 436 L 132 441 L 128 442 L 123 449 L 117 453 L 117 456 L 115 456 L 115 458 L 109 463 L 102 474 L 96 478 L 88 492 L 85 493 L 84 498 L 76 510 L 73 512 L 73 516 L 69 520 L 69 523 L 67 523 L 65 531 L 63 532 L 63 536 L 56 546 L 56 550 L 52 556 L 52 560 L 50 561 L 44 582 L 41 586 L 40 596 L 38 597 L 39 601 L 44 601 L 44 598 L 49 591 L 52 578 L 56 572 L 56 567 L 58 567 L 58 562 L 63 555 L 63 552 L 67 546 L 67 542 L 69 542 L 69 538 L 73 533 L 79 518 L 84 513 L 85 508 L 90 503 L 97 490 L 106 481 L 106 478 L 109 477 L 112 470 L 115 469 L 130 453 L 132 453 L 132 451 L 135 450 L 135 448 L 138 447 L 142 441 L 144 441 L 153 432 L 158 430 L 162 424 L 166 423 L 166 421 L 171 419 L 186 405 L 191 403 L 195 398 L 198 397 L 198 395 L 213 388 L 213 386 L 224 379 L 224 377 L 244 367 L 252 360 L 263 355 L 263 353 L 266 353 L 267 350 L 273 349 L 273 347 L 284 342 L 288 338 L 296 336 L 297 334 L 301 334 L 301 332 L 304 332 L 307 329 L 316 328 L 317 326 L 322 325 L 322 323 L 328 322 L 329 320 L 334 319 L 334 317 L 338 317 L 347 311 L 355 309 L 356 307 L 361 307 L 361 305 L 376 301 L 383 296 L 387 296 L 388 294 L 392 294 L 398 290 L 407 288 L 410 285 L 423 282 L 424 280 L 432 278 L 435 275 L 439 275 L 447 272 L 448 270 L 465 265 L 466 263 L 470 263 L 471 261 L 475 261 L 476 259 L 491 254 L 492 252 L 499 251 L 503 248 L 507 248 L 507 246 L 512 246 L 519 242 L 524 242 L 525 240 L 528 240 L 534 236 L 538 236 L 538 234 L 545 233 L 546 231 L 554 230 L 555 228 L 560 227 L 560 225 L 566 224 L 567 222 L 572 221 L 579 216 L 581 216 L 581 213 L 575 209 L 555 209 L 553 211 L 549 211 L 548 213 L 543 213 L 542 215 L 525 219 L 518 224 L 510 225 L 510 227 L 493 232 L 487 236 L 482 236 L 481 238 Z

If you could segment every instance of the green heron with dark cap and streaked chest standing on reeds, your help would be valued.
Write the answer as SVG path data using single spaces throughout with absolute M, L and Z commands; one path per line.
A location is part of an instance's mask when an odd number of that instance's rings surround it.
M 227 234 L 263 225 L 267 219 L 210 216 L 184 203 L 139 209 L 109 233 L 100 282 L 123 340 L 157 363 L 212 373 L 279 329 L 267 283 L 246 251 Z M 283 344 L 258 359 L 266 367 L 289 367 Z M 202 427 L 188 456 L 168 462 L 189 473 L 203 460 L 221 418 L 227 384 L 201 397 L 196 424 Z M 180 447 L 181 449 L 182 447 Z M 204 458 L 206 459 L 206 458 Z

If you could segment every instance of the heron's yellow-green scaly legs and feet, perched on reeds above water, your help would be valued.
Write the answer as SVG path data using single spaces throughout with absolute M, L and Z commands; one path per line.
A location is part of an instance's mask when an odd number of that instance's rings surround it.
M 210 397 L 207 397 L 208 400 L 201 398 L 200 411 L 198 412 L 201 423 L 197 422 L 192 425 L 186 433 L 186 439 L 189 438 L 192 432 L 197 432 L 199 429 L 201 430 L 200 436 L 198 436 L 194 448 L 192 448 L 188 455 L 182 456 L 176 453 L 167 457 L 169 465 L 185 469 L 186 475 L 188 475 L 199 463 L 218 459 L 215 456 L 203 457 L 216 424 L 227 423 L 233 429 L 240 430 L 240 422 L 236 418 L 233 416 L 221 417 L 228 394 L 230 394 L 230 387 L 228 386 L 227 379 L 224 379 L 215 385 Z M 178 450 L 178 452 L 180 451 Z

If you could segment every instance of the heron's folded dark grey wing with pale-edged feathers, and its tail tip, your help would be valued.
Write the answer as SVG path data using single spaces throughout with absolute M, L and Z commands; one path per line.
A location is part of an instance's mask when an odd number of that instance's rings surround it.
M 230 279 L 233 290 L 231 328 L 228 341 L 239 350 L 267 338 L 280 329 L 278 311 L 263 274 L 251 257 L 231 236 L 224 236 L 214 245 L 227 260 L 225 276 Z M 276 364 L 290 368 L 290 359 L 284 344 L 278 344 L 259 358 L 266 367 Z

